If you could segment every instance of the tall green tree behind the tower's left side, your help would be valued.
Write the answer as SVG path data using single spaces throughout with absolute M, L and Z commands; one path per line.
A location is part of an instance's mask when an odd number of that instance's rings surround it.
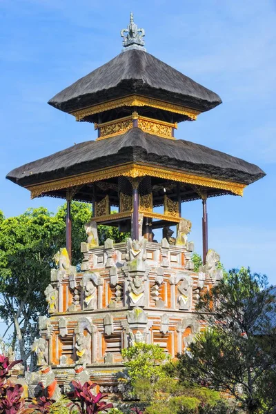
M 86 241 L 83 225 L 91 217 L 88 204 L 72 202 L 72 264 L 81 263 L 80 243 Z M 53 256 L 66 246 L 66 205 L 56 215 L 46 208 L 28 209 L 18 217 L 5 219 L 0 211 L 0 317 L 12 330 L 12 348 L 18 344 L 26 367 L 31 345 L 38 335 L 38 319 L 46 315 L 44 290 L 50 283 Z M 126 235 L 99 226 L 99 238 L 115 242 Z

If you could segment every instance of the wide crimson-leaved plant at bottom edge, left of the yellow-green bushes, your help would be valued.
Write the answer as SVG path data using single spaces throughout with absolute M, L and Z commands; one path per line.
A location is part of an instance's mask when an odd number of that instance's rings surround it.
M 72 386 L 74 391 L 68 394 L 70 400 L 79 400 L 80 405 L 76 407 L 81 414 L 97 414 L 101 411 L 106 411 L 108 408 L 113 408 L 113 404 L 106 404 L 105 401 L 102 401 L 106 394 L 97 393 L 97 395 L 92 394 L 92 388 L 95 388 L 96 384 L 92 382 L 86 382 L 81 385 L 80 382 L 72 381 Z

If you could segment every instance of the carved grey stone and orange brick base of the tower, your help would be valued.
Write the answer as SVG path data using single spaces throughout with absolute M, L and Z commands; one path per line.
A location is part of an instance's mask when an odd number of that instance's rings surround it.
M 46 289 L 50 317 L 41 317 L 35 349 L 61 389 L 92 380 L 106 393 L 124 393 L 121 349 L 158 344 L 175 357 L 199 332 L 195 305 L 220 273 L 214 259 L 193 270 L 193 243 L 184 246 L 128 239 L 81 244 L 81 271 L 61 249 Z M 50 375 L 50 374 L 48 374 Z M 123 375 L 124 377 L 124 375 Z

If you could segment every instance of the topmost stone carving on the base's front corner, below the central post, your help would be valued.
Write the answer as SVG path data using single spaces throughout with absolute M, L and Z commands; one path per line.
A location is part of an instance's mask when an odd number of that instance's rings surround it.
M 126 242 L 126 260 L 128 261 L 128 271 L 144 271 L 146 261 L 146 244 L 147 240 L 142 237 L 139 240 L 127 239 Z

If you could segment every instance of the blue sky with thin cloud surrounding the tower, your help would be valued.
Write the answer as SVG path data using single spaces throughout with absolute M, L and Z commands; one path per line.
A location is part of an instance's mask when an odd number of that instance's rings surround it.
M 90 124 L 47 101 L 121 51 L 130 11 L 148 52 L 207 88 L 223 104 L 179 124 L 178 138 L 257 164 L 267 176 L 244 197 L 208 201 L 209 247 L 226 268 L 250 266 L 276 284 L 275 0 L 0 0 L 0 209 L 57 210 L 5 179 L 12 168 L 95 139 Z M 183 206 L 201 252 L 201 203 Z

